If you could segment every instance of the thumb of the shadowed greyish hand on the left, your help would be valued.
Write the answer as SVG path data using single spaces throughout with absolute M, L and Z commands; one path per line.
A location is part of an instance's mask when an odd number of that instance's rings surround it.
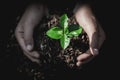
M 34 47 L 32 28 L 24 28 L 24 40 L 27 50 L 31 51 Z

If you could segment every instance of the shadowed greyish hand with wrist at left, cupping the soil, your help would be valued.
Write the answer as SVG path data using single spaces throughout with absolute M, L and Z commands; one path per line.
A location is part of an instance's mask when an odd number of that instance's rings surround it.
M 39 53 L 34 49 L 33 30 L 39 24 L 45 8 L 42 5 L 30 5 L 18 23 L 15 36 L 23 53 L 33 62 L 39 63 Z

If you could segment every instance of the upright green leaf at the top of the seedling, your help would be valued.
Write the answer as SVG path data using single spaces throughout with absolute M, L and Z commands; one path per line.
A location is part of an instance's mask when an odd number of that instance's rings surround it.
M 68 28 L 68 17 L 67 14 L 64 14 L 60 18 L 60 24 L 63 27 L 64 31 Z

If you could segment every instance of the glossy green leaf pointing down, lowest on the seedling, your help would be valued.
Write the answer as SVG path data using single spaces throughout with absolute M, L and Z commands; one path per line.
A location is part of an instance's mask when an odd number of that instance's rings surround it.
M 70 44 L 70 38 L 67 37 L 67 35 L 63 35 L 60 39 L 60 44 L 63 49 L 66 49 Z

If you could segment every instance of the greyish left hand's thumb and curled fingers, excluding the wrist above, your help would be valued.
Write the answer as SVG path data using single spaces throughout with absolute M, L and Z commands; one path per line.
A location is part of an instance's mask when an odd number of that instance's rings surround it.
M 33 62 L 39 63 L 39 54 L 33 50 L 33 30 L 32 28 L 25 28 L 18 26 L 15 31 L 18 43 L 20 44 L 23 53 Z

